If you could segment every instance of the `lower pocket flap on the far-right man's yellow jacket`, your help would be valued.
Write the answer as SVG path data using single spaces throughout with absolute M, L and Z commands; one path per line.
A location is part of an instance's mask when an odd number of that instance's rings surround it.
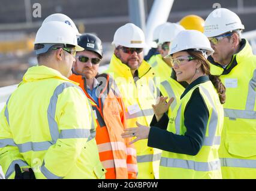
M 248 138 L 246 141 L 228 143 L 228 152 L 231 155 L 249 158 L 256 156 L 256 137 Z

